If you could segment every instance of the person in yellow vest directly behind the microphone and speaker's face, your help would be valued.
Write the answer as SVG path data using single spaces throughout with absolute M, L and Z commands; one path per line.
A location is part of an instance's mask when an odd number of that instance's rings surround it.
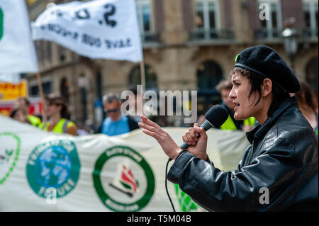
M 219 91 L 222 105 L 228 111 L 228 118 L 223 125 L 220 126 L 222 130 L 242 130 L 248 132 L 254 126 L 256 120 L 254 117 L 247 118 L 245 120 L 235 120 L 234 118 L 234 108 L 235 104 L 233 99 L 229 97 L 230 91 L 233 88 L 233 84 L 230 79 L 224 79 L 216 86 L 217 91 Z

